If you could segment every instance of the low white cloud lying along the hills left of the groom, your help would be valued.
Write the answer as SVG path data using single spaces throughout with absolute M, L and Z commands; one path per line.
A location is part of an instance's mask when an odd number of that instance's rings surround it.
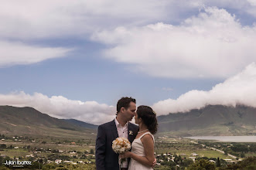
M 96 101 L 68 100 L 62 96 L 47 97 L 42 93 L 24 92 L 0 94 L 0 105 L 33 107 L 44 114 L 57 118 L 72 118 L 90 124 L 102 124 L 115 117 L 115 107 Z

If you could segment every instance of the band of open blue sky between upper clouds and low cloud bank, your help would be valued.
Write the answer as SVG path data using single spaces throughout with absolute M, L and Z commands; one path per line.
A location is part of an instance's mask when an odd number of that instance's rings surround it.
M 2 68 L 0 75 L 5 83 L 0 84 L 0 91 L 39 92 L 49 97 L 60 95 L 70 100 L 95 100 L 110 105 L 115 105 L 122 96 L 131 96 L 141 104 L 150 105 L 179 97 L 189 90 L 210 90 L 220 81 L 179 80 L 136 73 L 129 64 L 105 59 L 98 53 L 101 48 L 94 42 L 86 42 L 81 49 L 61 59 Z

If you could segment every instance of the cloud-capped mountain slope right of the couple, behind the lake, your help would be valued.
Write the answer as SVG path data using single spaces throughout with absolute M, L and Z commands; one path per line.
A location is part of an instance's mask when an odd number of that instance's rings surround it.
M 256 132 L 256 108 L 208 105 L 159 116 L 158 121 L 159 132 L 177 136 L 248 135 Z

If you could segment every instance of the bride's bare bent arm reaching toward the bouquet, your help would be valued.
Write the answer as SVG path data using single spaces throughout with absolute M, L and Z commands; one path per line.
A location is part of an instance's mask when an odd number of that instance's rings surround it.
M 145 151 L 145 157 L 135 155 L 131 151 L 125 152 L 123 157 L 124 158 L 133 158 L 135 161 L 137 161 L 143 165 L 152 166 L 153 162 L 155 161 L 154 141 L 152 139 L 152 136 L 150 134 L 145 134 L 145 136 L 141 140 L 142 140 L 142 144 L 143 144 L 144 151 Z

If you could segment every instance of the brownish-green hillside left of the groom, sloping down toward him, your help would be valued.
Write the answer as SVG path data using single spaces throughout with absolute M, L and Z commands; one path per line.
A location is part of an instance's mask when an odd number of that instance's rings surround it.
M 50 117 L 32 107 L 0 106 L 0 117 L 1 134 L 82 138 L 96 133 L 95 129 Z

